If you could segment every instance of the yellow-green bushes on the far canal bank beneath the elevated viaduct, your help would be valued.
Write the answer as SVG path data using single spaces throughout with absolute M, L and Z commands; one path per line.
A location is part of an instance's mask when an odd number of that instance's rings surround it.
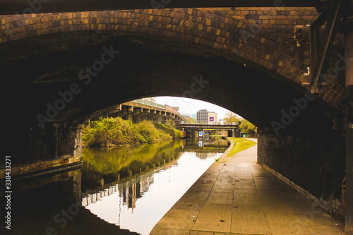
M 83 146 L 85 147 L 115 147 L 137 143 L 157 143 L 163 140 L 179 138 L 181 132 L 172 126 L 153 124 L 152 121 L 141 121 L 133 124 L 117 118 L 101 118 L 92 121 L 83 129 Z

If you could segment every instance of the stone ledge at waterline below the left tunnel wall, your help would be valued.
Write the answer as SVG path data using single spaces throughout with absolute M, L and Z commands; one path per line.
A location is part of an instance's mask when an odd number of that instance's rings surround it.
M 69 157 L 66 159 L 56 159 L 52 161 L 28 164 L 21 167 L 11 167 L 11 178 L 26 178 L 27 176 L 40 176 L 50 174 L 56 171 L 66 170 L 76 167 L 82 162 L 82 157 Z M 6 170 L 0 169 L 0 179 L 6 176 Z

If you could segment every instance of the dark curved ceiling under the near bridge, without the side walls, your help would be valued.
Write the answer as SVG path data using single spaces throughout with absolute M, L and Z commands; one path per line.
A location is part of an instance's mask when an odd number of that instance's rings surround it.
M 104 47 L 119 54 L 91 76 L 89 83 L 80 80 L 80 71 L 101 61 Z M 109 59 L 107 55 L 104 58 Z M 53 122 L 80 123 L 140 97 L 177 96 L 211 102 L 256 126 L 270 126 L 272 121 L 280 121 L 282 109 L 294 105 L 293 98 L 304 97 L 306 92 L 287 78 L 244 63 L 244 59 L 226 59 L 205 48 L 163 37 L 112 31 L 65 32 L 0 44 L 0 69 L 7 74 L 1 79 L 1 94 L 8 101 L 7 117 L 22 123 L 37 123 L 37 114 L 46 116 L 47 103 L 54 105 L 61 98 L 58 92 L 70 90 L 73 83 L 80 92 Z M 328 116 L 340 116 L 340 112 L 316 99 L 301 111 L 291 128 L 295 130 L 296 123 L 321 126 Z

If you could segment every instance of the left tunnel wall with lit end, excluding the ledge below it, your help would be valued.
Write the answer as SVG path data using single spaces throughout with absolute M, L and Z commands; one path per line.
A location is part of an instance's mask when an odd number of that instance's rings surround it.
M 11 155 L 12 167 L 81 157 L 82 128 L 73 123 L 46 123 L 44 128 L 37 123 L 8 125 L 1 128 L 1 133 L 8 136 L 1 152 Z

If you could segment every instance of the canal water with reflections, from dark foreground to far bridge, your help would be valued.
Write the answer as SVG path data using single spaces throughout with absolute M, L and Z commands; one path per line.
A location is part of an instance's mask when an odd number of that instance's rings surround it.
M 85 148 L 80 169 L 13 182 L 10 234 L 149 234 L 227 146 L 204 138 Z

